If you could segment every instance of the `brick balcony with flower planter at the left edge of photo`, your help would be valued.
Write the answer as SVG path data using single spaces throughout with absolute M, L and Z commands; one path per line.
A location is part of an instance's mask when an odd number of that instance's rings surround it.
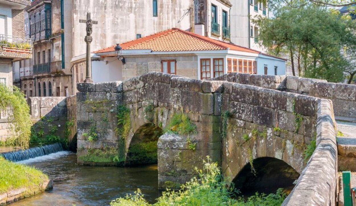
M 0 57 L 13 61 L 32 58 L 32 41 L 28 38 L 15 38 L 11 35 L 0 35 Z

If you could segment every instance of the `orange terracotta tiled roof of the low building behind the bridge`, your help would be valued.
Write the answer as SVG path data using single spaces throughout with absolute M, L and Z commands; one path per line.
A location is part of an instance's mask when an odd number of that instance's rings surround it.
M 115 46 L 103 48 L 94 53 L 114 52 Z M 235 50 L 250 53 L 261 53 L 250 48 L 232 43 L 214 40 L 209 37 L 194 34 L 189 31 L 173 28 L 156 34 L 142 37 L 133 41 L 120 43 L 122 50 L 152 50 L 156 52 L 175 51 L 207 51 L 207 50 Z

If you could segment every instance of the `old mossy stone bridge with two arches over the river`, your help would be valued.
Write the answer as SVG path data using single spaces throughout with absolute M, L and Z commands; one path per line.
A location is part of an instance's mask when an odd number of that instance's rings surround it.
M 163 188 L 196 175 L 209 155 L 240 190 L 298 179 L 284 205 L 335 205 L 335 100 L 300 92 L 313 81 L 237 73 L 201 81 L 150 72 L 124 82 L 79 83 L 78 163 L 158 161 Z M 188 118 L 195 132 L 163 134 L 177 117 Z

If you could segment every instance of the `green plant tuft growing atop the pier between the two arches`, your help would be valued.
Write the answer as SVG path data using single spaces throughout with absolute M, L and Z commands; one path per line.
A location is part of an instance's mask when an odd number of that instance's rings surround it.
M 165 133 L 178 133 L 181 135 L 197 134 L 197 126 L 185 114 L 174 114 L 167 125 Z

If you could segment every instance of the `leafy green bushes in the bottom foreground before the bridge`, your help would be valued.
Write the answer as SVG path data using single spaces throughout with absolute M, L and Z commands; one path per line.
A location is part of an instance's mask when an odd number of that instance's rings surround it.
M 276 194 L 258 194 L 244 200 L 242 197 L 238 199 L 231 198 L 239 194 L 230 181 L 224 179 L 220 173 L 217 163 L 211 163 L 208 157 L 204 161 L 204 170 L 197 170 L 199 179 L 193 177 L 190 181 L 180 186 L 180 190 L 167 189 L 162 193 L 162 196 L 157 199 L 154 206 L 275 206 L 281 205 L 286 198 L 286 194 L 279 189 Z M 166 186 L 177 187 L 175 182 L 167 181 Z M 140 190 L 137 190 L 133 195 L 118 198 L 110 203 L 111 206 L 142 206 L 151 205 L 143 198 Z

